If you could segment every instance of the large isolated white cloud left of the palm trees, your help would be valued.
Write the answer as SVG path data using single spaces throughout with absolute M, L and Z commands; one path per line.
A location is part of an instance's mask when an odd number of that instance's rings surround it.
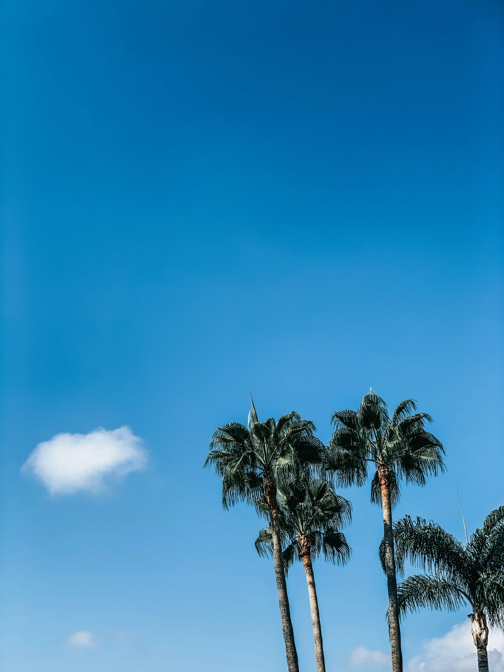
M 52 494 L 103 489 L 106 476 L 126 476 L 144 469 L 147 452 L 142 439 L 129 427 L 108 431 L 99 427 L 89 434 L 60 433 L 43 441 L 22 466 Z

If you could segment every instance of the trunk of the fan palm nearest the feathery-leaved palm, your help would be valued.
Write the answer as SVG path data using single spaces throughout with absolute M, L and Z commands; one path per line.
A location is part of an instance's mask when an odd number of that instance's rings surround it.
M 394 557 L 394 534 L 392 532 L 392 505 L 390 503 L 390 476 L 386 466 L 378 467 L 382 491 L 383 538 L 385 542 L 385 564 L 388 589 L 388 634 L 392 648 L 392 672 L 403 672 L 403 652 L 401 650 L 401 627 L 397 599 L 396 561 Z

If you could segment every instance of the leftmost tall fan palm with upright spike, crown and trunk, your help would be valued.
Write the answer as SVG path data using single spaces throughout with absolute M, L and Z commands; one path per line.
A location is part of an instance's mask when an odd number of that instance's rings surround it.
M 278 421 L 268 418 L 259 422 L 252 400 L 251 405 L 247 427 L 234 422 L 215 430 L 205 466 L 212 464 L 222 478 L 222 505 L 225 509 L 239 500 L 258 508 L 261 495 L 265 497 L 273 535 L 275 577 L 287 665 L 289 672 L 299 672 L 282 560 L 277 487 L 290 474 L 306 473 L 312 465 L 321 464 L 324 447 L 313 435 L 315 425 L 302 420 L 295 411 L 282 415 Z

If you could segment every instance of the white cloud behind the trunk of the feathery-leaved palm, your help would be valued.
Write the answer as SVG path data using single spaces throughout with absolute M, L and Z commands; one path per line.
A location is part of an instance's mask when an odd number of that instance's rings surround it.
M 504 672 L 504 634 L 489 633 L 489 667 Z M 470 620 L 453 626 L 450 632 L 423 643 L 423 654 L 409 661 L 407 672 L 474 672 L 478 669 L 476 647 L 472 642 Z

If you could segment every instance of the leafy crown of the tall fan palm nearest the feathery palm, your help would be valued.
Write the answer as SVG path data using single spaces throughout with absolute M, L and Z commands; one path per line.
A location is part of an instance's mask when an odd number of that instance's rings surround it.
M 386 472 L 394 506 L 400 496 L 401 478 L 423 486 L 427 476 L 444 471 L 442 443 L 425 429 L 425 423 L 432 419 L 427 413 L 413 413 L 416 409 L 415 400 L 405 399 L 390 418 L 384 400 L 370 390 L 358 411 L 333 413 L 334 433 L 326 468 L 335 472 L 339 485 L 364 485 L 368 465 L 374 464 L 371 501 L 381 504 L 381 468 Z

